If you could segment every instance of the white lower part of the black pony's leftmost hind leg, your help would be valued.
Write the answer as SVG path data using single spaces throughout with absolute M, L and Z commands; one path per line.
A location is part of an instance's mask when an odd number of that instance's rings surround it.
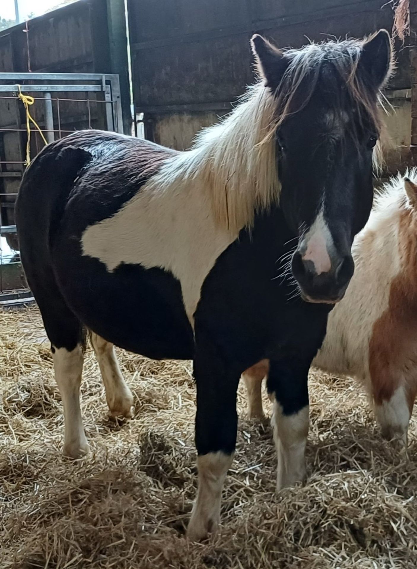
M 83 351 L 77 345 L 72 352 L 65 348 L 55 348 L 55 380 L 58 384 L 64 406 L 64 455 L 77 459 L 88 452 L 83 420 L 80 410 L 80 385 L 83 373 Z

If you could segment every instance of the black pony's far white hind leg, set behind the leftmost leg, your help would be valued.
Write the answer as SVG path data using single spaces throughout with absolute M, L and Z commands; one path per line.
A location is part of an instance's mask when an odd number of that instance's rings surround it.
M 131 418 L 133 395 L 121 374 L 114 345 L 95 332 L 90 339 L 103 377 L 109 415 Z

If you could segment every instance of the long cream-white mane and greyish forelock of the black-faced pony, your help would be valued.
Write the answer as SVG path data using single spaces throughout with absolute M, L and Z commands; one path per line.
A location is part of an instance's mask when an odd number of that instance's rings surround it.
M 236 108 L 219 124 L 203 129 L 189 151 L 167 160 L 155 177 L 154 188 L 200 185 L 209 192 L 212 212 L 220 228 L 239 231 L 251 227 L 255 213 L 278 203 L 277 127 L 302 109 L 322 81 L 322 64 L 331 64 L 347 86 L 359 116 L 365 113 L 381 127 L 374 89 L 357 71 L 363 42 L 345 40 L 309 44 L 287 50 L 290 63 L 279 88 L 272 93 L 262 79 L 247 89 Z M 308 79 L 308 80 L 306 80 Z M 297 97 L 296 97 L 297 96 Z M 301 100 L 301 104 L 300 104 Z M 342 110 L 335 93 L 334 112 Z M 378 163 L 378 146 L 374 162 Z

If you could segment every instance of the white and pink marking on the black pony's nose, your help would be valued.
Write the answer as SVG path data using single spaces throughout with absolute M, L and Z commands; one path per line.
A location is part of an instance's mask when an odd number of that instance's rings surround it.
M 334 243 L 324 218 L 323 208 L 302 238 L 300 249 L 304 250 L 302 260 L 312 261 L 317 275 L 328 273 L 332 268 L 329 253 L 333 253 Z

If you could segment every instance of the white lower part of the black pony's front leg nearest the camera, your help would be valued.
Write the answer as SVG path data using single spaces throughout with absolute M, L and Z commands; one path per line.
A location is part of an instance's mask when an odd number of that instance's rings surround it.
M 197 458 L 197 500 L 187 528 L 187 536 L 193 541 L 199 541 L 218 529 L 224 479 L 233 457 L 234 453 L 226 455 L 218 451 Z

